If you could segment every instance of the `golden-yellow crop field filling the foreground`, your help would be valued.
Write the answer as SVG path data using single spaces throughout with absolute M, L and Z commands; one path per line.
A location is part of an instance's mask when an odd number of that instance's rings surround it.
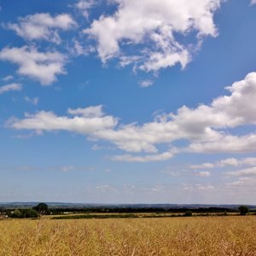
M 256 217 L 0 221 L 0 255 L 256 255 Z

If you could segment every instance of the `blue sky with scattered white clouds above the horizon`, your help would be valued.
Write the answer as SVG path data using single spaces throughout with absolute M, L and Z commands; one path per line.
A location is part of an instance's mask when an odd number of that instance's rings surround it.
M 0 201 L 256 204 L 255 0 L 0 0 Z

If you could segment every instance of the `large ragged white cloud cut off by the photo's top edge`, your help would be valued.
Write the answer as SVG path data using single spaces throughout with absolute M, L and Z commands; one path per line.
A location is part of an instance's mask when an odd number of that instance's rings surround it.
M 186 67 L 191 59 L 189 45 L 178 41 L 176 34 L 197 35 L 195 44 L 203 37 L 217 36 L 213 21 L 221 0 L 113 0 L 117 10 L 102 15 L 84 30 L 97 42 L 103 62 L 119 57 L 122 65 L 134 63 L 144 71 L 157 71 L 179 63 Z M 129 49 L 134 54 L 130 55 Z

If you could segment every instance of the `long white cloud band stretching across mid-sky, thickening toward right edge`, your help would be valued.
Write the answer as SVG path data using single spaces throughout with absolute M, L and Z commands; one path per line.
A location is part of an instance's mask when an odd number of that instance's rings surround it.
M 114 160 L 151 161 L 167 160 L 179 152 L 192 153 L 247 153 L 256 151 L 256 134 L 231 135 L 232 128 L 256 124 L 256 73 L 227 88 L 230 96 L 219 96 L 211 104 L 197 108 L 183 106 L 177 113 L 156 116 L 152 122 L 123 125 L 119 119 L 102 112 L 102 106 L 68 109 L 69 116 L 41 111 L 26 115 L 25 119 L 12 120 L 15 129 L 42 131 L 73 131 L 94 139 L 107 140 L 118 148 L 147 155 L 118 155 Z M 226 132 L 226 129 L 229 132 Z M 184 140 L 186 148 L 159 152 L 159 145 L 172 147 L 175 141 Z M 251 159 L 251 161 L 253 161 Z M 236 165 L 236 160 L 224 160 L 219 165 Z M 213 167 L 204 164 L 204 167 Z

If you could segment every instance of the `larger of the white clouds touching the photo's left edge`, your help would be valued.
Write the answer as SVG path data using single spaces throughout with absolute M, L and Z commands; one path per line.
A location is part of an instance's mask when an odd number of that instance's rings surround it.
M 28 46 L 6 47 L 0 51 L 0 60 L 17 64 L 20 75 L 38 80 L 43 85 L 52 84 L 56 75 L 65 73 L 66 55 L 57 51 L 39 52 Z

